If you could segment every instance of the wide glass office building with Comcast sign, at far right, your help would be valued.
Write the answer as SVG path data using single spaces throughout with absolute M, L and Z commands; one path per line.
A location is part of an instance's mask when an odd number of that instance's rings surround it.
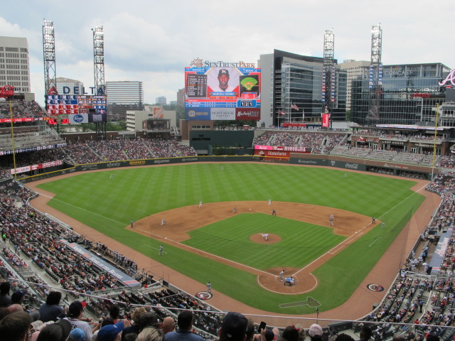
M 365 67 L 368 70 L 368 67 Z M 383 65 L 379 118 L 369 119 L 370 82 L 352 81 L 350 118 L 358 124 L 417 124 L 434 122 L 436 106 L 446 99 L 446 87 L 438 83 L 449 74 L 441 63 Z

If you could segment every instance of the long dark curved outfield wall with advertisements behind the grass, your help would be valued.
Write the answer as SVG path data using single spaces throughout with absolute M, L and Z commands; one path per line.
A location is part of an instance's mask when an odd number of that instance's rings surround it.
M 320 154 L 301 154 L 291 153 L 290 158 L 262 158 L 260 156 L 184 156 L 180 158 L 149 158 L 144 160 L 127 160 L 127 161 L 109 161 L 99 163 L 85 163 L 76 165 L 72 168 L 65 168 L 60 171 L 42 173 L 38 175 L 21 178 L 23 183 L 30 181 L 41 180 L 44 178 L 52 178 L 58 175 L 64 175 L 80 171 L 92 171 L 97 169 L 111 169 L 134 166 L 156 166 L 178 163 L 193 163 L 193 162 L 273 162 L 273 163 L 290 163 L 303 166 L 326 166 L 350 169 L 354 171 L 367 171 L 371 173 L 381 173 L 389 175 L 399 175 L 408 178 L 422 178 L 431 180 L 432 168 L 426 166 L 408 165 L 400 163 L 392 163 L 387 161 L 375 161 L 365 158 L 348 158 L 343 156 L 320 155 Z M 438 169 L 434 168 L 434 173 L 438 173 Z

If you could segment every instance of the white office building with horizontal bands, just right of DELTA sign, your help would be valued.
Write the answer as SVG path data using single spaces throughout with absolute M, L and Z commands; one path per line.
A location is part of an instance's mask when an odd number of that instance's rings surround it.
M 127 110 L 144 110 L 142 82 L 106 82 L 107 118 L 125 120 Z

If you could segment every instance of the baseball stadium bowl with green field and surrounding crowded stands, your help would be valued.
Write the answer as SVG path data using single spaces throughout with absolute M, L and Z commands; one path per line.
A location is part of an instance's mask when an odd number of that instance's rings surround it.
M 226 311 L 279 330 L 316 322 L 327 340 L 365 324 L 378 340 L 454 334 L 451 156 L 359 147 L 395 134 L 370 128 L 220 131 L 250 136 L 239 156 L 198 155 L 162 132 L 3 129 L 1 276 L 30 308 L 61 291 L 93 318 L 111 305 L 159 320 L 191 309 L 208 340 Z M 257 148 L 274 141 L 311 153 Z

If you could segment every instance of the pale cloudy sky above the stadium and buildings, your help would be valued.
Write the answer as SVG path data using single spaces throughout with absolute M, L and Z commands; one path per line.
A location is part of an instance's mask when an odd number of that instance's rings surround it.
M 3 4 L 2 4 L 3 3 Z M 7 6 L 6 6 L 7 5 Z M 105 80 L 141 81 L 144 102 L 176 100 L 196 58 L 256 63 L 274 49 L 370 60 L 371 27 L 381 24 L 382 63 L 455 67 L 453 0 L 0 0 L 0 36 L 25 37 L 31 92 L 44 103 L 43 19 L 55 27 L 57 77 L 94 84 L 92 28 L 105 33 Z

